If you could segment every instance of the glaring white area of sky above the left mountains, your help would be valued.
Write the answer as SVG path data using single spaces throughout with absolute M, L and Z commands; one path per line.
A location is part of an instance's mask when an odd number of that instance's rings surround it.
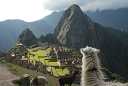
M 42 4 L 43 0 L 0 0 L 0 20 L 38 20 L 50 13 Z

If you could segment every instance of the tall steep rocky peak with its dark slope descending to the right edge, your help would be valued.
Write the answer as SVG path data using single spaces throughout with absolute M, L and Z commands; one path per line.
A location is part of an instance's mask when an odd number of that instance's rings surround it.
M 66 47 L 99 48 L 103 65 L 110 71 L 128 78 L 127 33 L 93 22 L 78 5 L 72 5 L 64 12 L 54 34 L 58 43 Z

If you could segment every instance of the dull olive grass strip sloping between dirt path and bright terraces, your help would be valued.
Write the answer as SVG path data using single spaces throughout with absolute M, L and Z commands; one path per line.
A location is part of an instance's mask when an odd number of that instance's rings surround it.
M 9 71 L 11 71 L 13 74 L 21 77 L 24 74 L 29 74 L 31 77 L 35 77 L 38 75 L 46 76 L 48 78 L 48 86 L 59 86 L 58 85 L 58 80 L 55 77 L 52 77 L 50 75 L 44 75 L 43 73 L 36 72 L 27 68 L 23 68 L 21 66 L 11 64 L 11 63 L 6 63 L 7 67 L 9 68 Z

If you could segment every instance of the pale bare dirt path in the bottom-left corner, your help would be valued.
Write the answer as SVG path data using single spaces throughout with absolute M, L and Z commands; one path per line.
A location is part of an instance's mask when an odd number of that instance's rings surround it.
M 4 64 L 0 64 L 0 86 L 15 86 L 11 81 L 17 78 L 18 77 L 12 74 Z

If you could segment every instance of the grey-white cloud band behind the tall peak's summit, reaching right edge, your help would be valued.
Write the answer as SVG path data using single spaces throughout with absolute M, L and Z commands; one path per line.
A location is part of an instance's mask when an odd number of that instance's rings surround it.
M 43 6 L 50 10 L 63 10 L 78 4 L 83 10 L 116 9 L 128 7 L 128 0 L 44 0 Z

